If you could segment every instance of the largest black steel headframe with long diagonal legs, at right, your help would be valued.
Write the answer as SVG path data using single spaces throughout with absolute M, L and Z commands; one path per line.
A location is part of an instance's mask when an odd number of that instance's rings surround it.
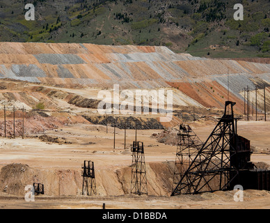
M 178 194 L 198 194 L 201 192 L 214 192 L 216 190 L 230 190 L 232 181 L 235 183 L 239 169 L 244 164 L 238 162 L 248 155 L 237 153 L 240 150 L 241 139 L 235 129 L 237 119 L 234 118 L 232 107 L 235 102 L 225 102 L 225 112 L 205 144 L 200 148 L 196 157 L 184 172 L 171 196 Z M 244 140 L 245 141 L 245 140 Z M 240 145 L 240 146 L 239 146 Z

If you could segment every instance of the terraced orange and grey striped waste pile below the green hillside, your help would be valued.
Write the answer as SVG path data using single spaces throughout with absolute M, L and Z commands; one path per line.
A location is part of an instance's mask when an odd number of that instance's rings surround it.
M 173 88 L 174 105 L 219 109 L 223 109 L 229 88 L 230 100 L 237 102 L 235 111 L 240 110 L 246 86 L 253 96 L 256 86 L 266 86 L 269 95 L 270 64 L 198 58 L 175 54 L 167 47 L 0 43 L 0 54 L 2 79 L 81 89 L 111 89 L 113 84 L 121 89 Z M 97 107 L 96 96 L 75 93 L 72 97 L 72 93 L 67 96 L 65 91 L 61 95 L 56 91 L 51 96 L 69 97 L 70 104 L 80 107 Z M 8 93 L 4 97 L 12 100 L 18 95 Z M 258 109 L 263 110 L 261 102 Z

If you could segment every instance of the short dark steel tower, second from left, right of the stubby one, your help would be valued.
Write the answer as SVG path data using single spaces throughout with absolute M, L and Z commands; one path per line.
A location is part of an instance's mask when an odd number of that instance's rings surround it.
M 96 185 L 95 185 L 95 168 L 94 162 L 84 161 L 81 165 L 81 176 L 83 177 L 83 195 L 97 195 Z M 89 192 L 90 187 L 90 192 Z

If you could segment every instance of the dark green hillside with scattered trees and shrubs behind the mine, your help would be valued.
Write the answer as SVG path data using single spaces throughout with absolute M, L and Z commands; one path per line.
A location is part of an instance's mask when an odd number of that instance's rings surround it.
M 232 0 L 33 2 L 36 20 L 26 21 L 25 1 L 1 1 L 0 41 L 164 45 L 193 56 L 270 56 L 269 0 L 242 1 L 244 21 L 233 19 Z

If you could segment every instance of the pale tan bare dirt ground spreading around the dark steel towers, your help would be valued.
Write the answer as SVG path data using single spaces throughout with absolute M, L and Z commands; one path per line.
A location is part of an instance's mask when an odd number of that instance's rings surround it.
M 202 141 L 212 132 L 215 123 L 190 124 Z M 176 146 L 164 145 L 152 134 L 161 130 L 138 130 L 137 139 L 145 144 L 148 196 L 129 194 L 132 164 L 129 145 L 135 137 L 127 130 L 127 149 L 124 149 L 124 130 L 116 129 L 116 148 L 113 148 L 113 128 L 78 123 L 45 132 L 50 137 L 66 139 L 70 144 L 40 141 L 38 137 L 26 139 L 0 139 L 0 165 L 22 164 L 19 173 L 12 172 L 0 182 L 0 208 L 270 208 L 270 193 L 245 190 L 244 202 L 235 202 L 234 191 L 181 195 L 170 197 L 170 165 L 175 161 Z M 270 164 L 269 122 L 239 121 L 238 133 L 251 140 L 255 148 L 253 162 Z M 35 134 L 40 136 L 42 134 Z M 97 196 L 86 197 L 81 192 L 81 164 L 95 162 Z M 14 167 L 15 168 L 15 167 Z M 16 167 L 17 168 L 17 167 Z M 6 176 L 1 171 L 2 176 Z M 16 175 L 17 174 L 17 175 Z M 13 180 L 13 181 L 12 181 Z M 24 200 L 24 187 L 33 180 L 45 183 L 45 195 L 35 202 Z M 5 186 L 12 182 L 18 187 Z M 169 183 L 168 183 L 169 182 Z M 19 188 L 19 189 L 18 189 Z

